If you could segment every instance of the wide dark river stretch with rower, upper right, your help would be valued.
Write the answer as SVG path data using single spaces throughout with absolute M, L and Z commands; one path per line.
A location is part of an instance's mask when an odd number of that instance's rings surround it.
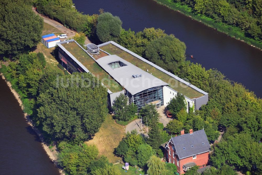
M 262 97 L 262 52 L 241 41 L 217 32 L 179 12 L 160 6 L 152 0 L 73 0 L 85 14 L 99 13 L 103 8 L 123 21 L 123 28 L 143 30 L 155 27 L 174 34 L 187 46 L 187 59 L 206 69 L 217 68 L 226 78 L 242 83 Z

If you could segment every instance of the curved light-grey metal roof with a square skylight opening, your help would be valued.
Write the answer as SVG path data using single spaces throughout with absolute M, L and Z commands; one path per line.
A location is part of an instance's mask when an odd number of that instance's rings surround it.
M 112 69 L 108 65 L 118 61 L 124 63 L 125 66 Z M 97 59 L 96 62 L 132 95 L 156 86 L 168 85 L 154 75 L 149 74 L 117 55 L 104 56 Z M 138 75 L 138 77 L 134 78 L 133 75 Z

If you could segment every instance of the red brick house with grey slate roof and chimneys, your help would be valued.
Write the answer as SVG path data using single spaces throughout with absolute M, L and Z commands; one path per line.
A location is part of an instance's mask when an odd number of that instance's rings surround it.
M 208 163 L 210 145 L 204 130 L 193 132 L 191 129 L 188 134 L 182 130 L 180 136 L 172 137 L 162 146 L 166 161 L 175 164 L 179 174 L 195 165 L 203 167 Z

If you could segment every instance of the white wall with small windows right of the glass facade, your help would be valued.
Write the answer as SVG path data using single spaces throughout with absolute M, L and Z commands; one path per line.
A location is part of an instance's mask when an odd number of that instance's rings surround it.
M 173 89 L 169 88 L 168 86 L 163 86 L 163 100 L 164 100 L 164 106 L 167 106 L 170 102 L 170 100 L 175 97 L 175 95 L 177 94 L 176 91 L 174 91 Z M 194 104 L 194 101 L 191 99 L 188 99 L 187 97 L 185 97 L 187 106 L 188 106 L 188 102 L 189 102 L 189 106 L 192 107 Z M 188 112 L 188 108 L 187 108 L 187 112 Z

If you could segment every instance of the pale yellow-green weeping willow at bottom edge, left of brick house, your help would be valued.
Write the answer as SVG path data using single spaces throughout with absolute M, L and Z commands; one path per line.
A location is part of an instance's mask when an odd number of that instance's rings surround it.
M 149 175 L 167 175 L 170 173 L 166 168 L 166 163 L 154 155 L 149 158 L 147 166 L 148 170 L 146 173 Z

